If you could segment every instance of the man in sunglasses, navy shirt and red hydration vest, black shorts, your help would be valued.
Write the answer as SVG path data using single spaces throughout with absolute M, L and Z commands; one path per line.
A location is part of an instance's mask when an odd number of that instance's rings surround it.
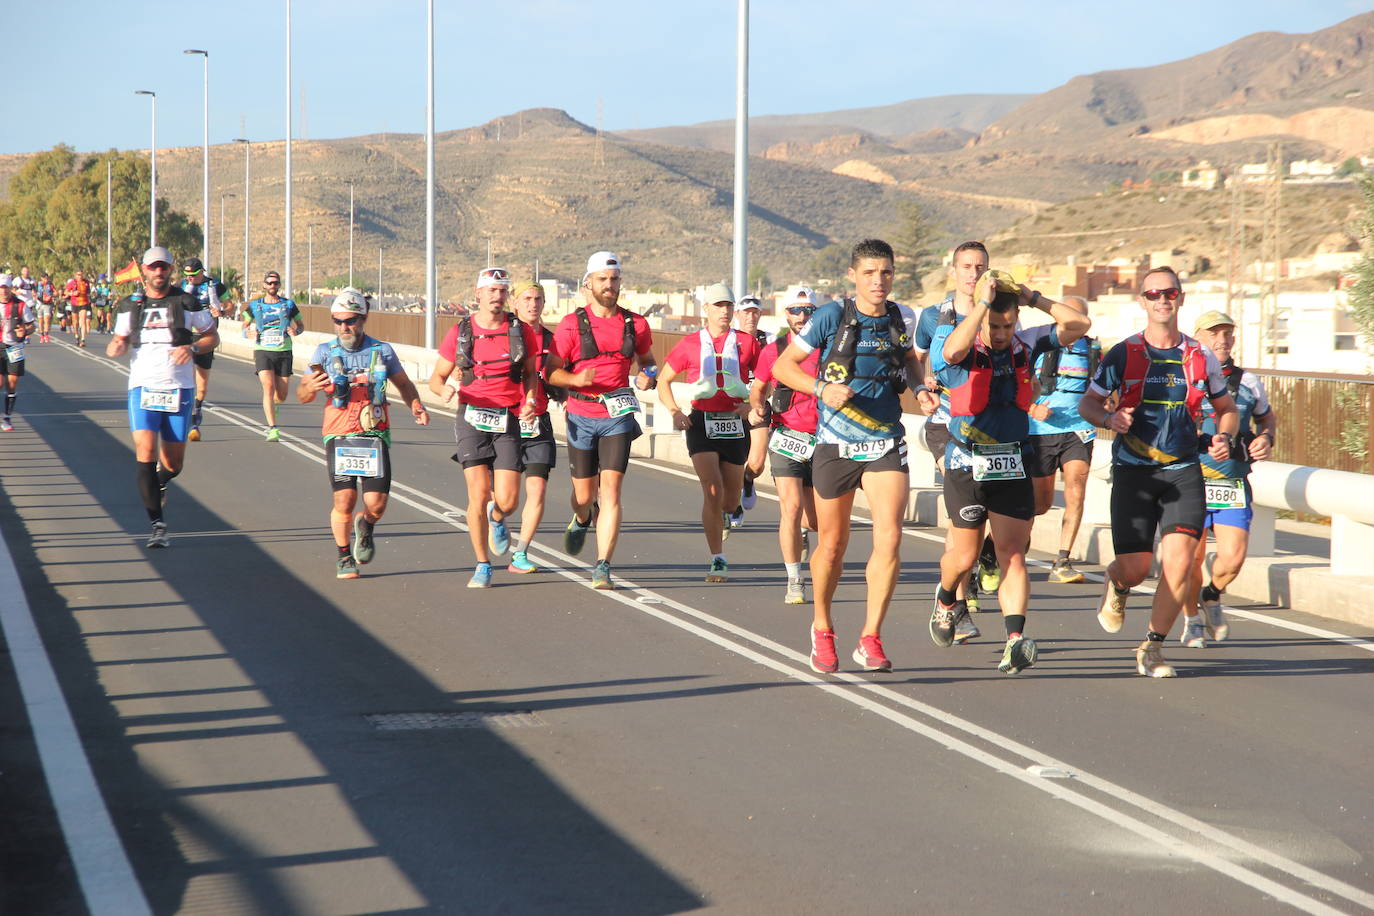
M 1164 659 L 1164 640 L 1187 599 L 1193 555 L 1202 537 L 1206 500 L 1198 467 L 1198 422 L 1202 398 L 1216 411 L 1209 455 L 1231 457 L 1238 415 L 1216 356 L 1179 331 L 1183 288 L 1172 268 L 1151 269 L 1140 279 L 1138 301 L 1146 328 L 1106 356 L 1092 376 L 1079 413 L 1117 434 L 1112 444 L 1112 547 L 1098 622 L 1120 633 L 1131 588 L 1145 581 L 1160 538 L 1160 585 L 1150 606 L 1146 639 L 1135 665 L 1147 677 L 1173 677 Z M 1151 375 L 1153 374 L 1153 375 Z M 1106 409 L 1121 391 L 1114 411 Z

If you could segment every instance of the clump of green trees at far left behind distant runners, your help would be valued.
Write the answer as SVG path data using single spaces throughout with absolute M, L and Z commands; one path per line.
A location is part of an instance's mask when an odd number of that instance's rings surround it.
M 47 271 L 54 280 L 103 271 L 110 159 L 113 268 L 142 254 L 148 247 L 148 163 L 118 158 L 113 150 L 80 158 L 67 146 L 30 157 L 10 180 L 10 199 L 0 203 L 0 250 L 15 265 Z M 158 244 L 176 257 L 201 250 L 201 227 L 164 198 L 158 198 Z

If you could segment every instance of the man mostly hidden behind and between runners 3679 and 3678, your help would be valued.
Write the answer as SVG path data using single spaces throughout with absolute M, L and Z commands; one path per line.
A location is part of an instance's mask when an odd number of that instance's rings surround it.
M 923 379 L 915 390 L 916 407 L 927 417 L 922 427 L 922 438 L 930 450 L 930 457 L 936 467 L 944 472 L 945 446 L 949 445 L 949 393 L 944 390 L 930 368 L 930 346 L 936 331 L 947 324 L 959 324 L 973 310 L 973 290 L 978 277 L 988 272 L 988 249 L 982 242 L 970 240 L 960 243 L 949 258 L 949 273 L 954 280 L 954 290 L 945 295 L 943 302 L 927 305 L 921 310 L 916 321 L 915 352 L 916 363 L 921 365 Z M 948 551 L 954 538 L 954 529 L 945 530 L 945 549 Z M 1002 584 L 998 571 L 998 558 L 992 548 L 992 537 L 982 538 L 982 551 L 978 553 L 977 567 L 966 580 L 959 584 L 959 608 L 977 614 L 981 608 L 978 602 L 980 584 L 985 582 L 982 591 L 996 592 Z M 958 630 L 955 641 L 962 643 L 981 636 L 973 618 L 959 612 L 956 615 Z

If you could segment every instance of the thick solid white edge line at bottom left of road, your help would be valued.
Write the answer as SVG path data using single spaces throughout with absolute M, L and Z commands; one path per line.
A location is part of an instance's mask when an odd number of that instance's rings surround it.
M 95 916 L 151 913 L 96 786 L 4 538 L 0 538 L 0 595 L 5 596 L 0 602 L 0 629 L 10 644 L 43 776 L 87 906 Z

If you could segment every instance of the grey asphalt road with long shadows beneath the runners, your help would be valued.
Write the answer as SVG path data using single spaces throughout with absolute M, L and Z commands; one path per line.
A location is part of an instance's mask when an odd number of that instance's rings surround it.
M 1242 608 L 1228 643 L 1171 643 L 1180 677 L 1151 681 L 1132 662 L 1149 597 L 1110 637 L 1099 586 L 1047 585 L 1040 566 L 1040 662 L 1013 678 L 992 614 L 970 645 L 930 643 L 943 533 L 912 527 L 896 669 L 864 674 L 848 659 L 859 525 L 845 670 L 820 677 L 809 608 L 782 603 L 776 504 L 727 542 L 731 581 L 706 585 L 677 468 L 631 468 L 620 591 L 584 586 L 591 551 L 552 549 L 563 467 L 532 551 L 544 569 L 466 589 L 438 415 L 398 420 L 376 560 L 341 582 L 320 407 L 289 404 L 283 441 L 264 442 L 251 367 L 228 358 L 172 485 L 172 549 L 148 552 L 122 372 L 99 350 L 30 350 L 0 439 L 26 600 L 4 597 L 11 618 L 32 610 L 125 890 L 151 912 L 1374 911 L 1374 641 L 1353 628 Z M 118 857 L 67 854 L 59 818 L 95 836 L 100 806 L 67 803 L 51 761 L 45 781 L 52 707 L 26 710 L 33 658 L 7 639 L 0 912 L 87 912 L 81 883 L 117 886 Z

